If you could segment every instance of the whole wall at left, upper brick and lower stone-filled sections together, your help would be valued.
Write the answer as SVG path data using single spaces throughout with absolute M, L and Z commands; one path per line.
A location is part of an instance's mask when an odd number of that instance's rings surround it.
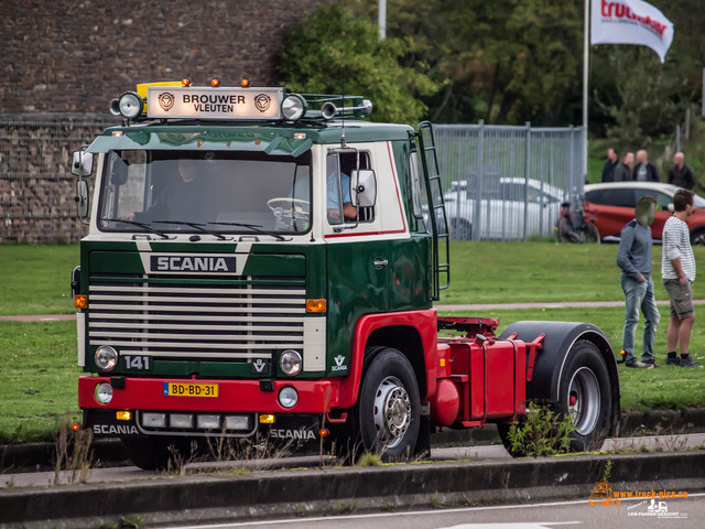
M 68 156 L 110 99 L 184 77 L 276 85 L 281 42 L 327 1 L 0 0 L 0 244 L 84 235 Z

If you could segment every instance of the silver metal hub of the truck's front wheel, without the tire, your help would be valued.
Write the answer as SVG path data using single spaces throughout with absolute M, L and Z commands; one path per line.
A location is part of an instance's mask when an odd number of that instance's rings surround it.
M 387 377 L 375 396 L 375 428 L 379 442 L 388 449 L 399 444 L 411 423 L 411 400 L 395 377 Z

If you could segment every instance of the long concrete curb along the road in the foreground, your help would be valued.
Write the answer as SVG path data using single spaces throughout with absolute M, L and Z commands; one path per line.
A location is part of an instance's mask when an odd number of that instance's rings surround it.
M 705 451 L 501 462 L 251 472 L 0 490 L 1 527 L 75 528 L 408 510 L 585 498 L 609 472 L 615 490 L 705 489 Z M 638 482 L 636 481 L 638 478 Z M 178 509 L 174 509 L 178 506 Z M 46 516 L 51 516 L 47 519 Z

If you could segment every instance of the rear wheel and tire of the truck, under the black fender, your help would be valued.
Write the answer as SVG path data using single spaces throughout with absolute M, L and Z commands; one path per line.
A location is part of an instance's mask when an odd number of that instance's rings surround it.
M 575 431 L 571 449 L 599 450 L 612 424 L 611 381 L 607 365 L 592 342 L 573 346 L 558 382 L 556 411 L 570 414 Z

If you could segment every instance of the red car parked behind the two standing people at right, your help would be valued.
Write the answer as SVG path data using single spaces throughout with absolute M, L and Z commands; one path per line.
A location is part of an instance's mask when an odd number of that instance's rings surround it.
M 658 182 L 614 182 L 585 186 L 585 219 L 597 227 L 601 239 L 619 238 L 621 228 L 634 218 L 634 206 L 646 195 L 657 199 L 657 216 L 651 236 L 661 240 L 663 225 L 673 212 L 673 194 L 680 187 Z M 705 245 L 705 198 L 694 197 L 695 213 L 685 220 L 691 242 Z

